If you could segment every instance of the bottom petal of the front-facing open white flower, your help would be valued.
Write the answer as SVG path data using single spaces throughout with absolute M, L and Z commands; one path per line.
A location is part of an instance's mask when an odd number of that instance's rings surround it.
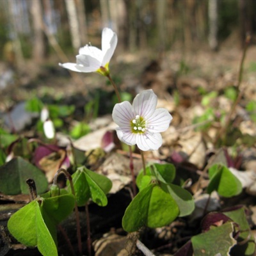
M 138 134 L 136 137 L 136 144 L 140 150 L 157 150 L 163 143 L 162 136 L 160 133 L 145 132 Z

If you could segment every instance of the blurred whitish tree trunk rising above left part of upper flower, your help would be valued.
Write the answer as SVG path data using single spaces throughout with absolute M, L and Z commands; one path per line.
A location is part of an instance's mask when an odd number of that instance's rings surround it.
M 77 51 L 79 47 L 81 47 L 81 38 L 79 35 L 79 22 L 77 19 L 76 4 L 74 0 L 65 0 L 65 3 L 68 14 L 72 46 Z

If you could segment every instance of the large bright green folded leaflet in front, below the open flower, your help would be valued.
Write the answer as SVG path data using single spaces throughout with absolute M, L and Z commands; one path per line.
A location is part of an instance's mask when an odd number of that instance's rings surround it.
M 170 224 L 179 215 L 178 205 L 157 184 L 149 184 L 127 207 L 122 225 L 127 232 L 143 226 L 156 228 Z

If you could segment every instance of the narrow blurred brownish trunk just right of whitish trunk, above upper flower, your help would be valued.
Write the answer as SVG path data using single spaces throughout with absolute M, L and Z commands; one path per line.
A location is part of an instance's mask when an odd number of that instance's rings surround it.
M 85 12 L 84 1 L 76 0 L 76 6 L 77 6 L 77 17 L 79 22 L 81 45 L 85 45 L 88 43 L 88 35 L 87 35 L 86 12 Z

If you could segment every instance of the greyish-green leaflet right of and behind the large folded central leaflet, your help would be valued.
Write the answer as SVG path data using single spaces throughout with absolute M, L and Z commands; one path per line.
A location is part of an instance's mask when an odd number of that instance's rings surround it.
M 189 191 L 175 184 L 160 183 L 164 191 L 168 191 L 179 207 L 179 217 L 188 216 L 195 209 L 193 196 Z

